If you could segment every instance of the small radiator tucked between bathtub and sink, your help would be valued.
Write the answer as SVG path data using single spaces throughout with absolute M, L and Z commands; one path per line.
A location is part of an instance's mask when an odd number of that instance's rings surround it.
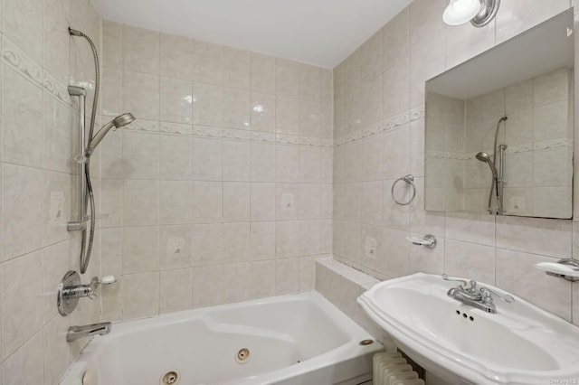
M 373 385 L 424 385 L 418 373 L 399 352 L 382 352 L 374 355 Z

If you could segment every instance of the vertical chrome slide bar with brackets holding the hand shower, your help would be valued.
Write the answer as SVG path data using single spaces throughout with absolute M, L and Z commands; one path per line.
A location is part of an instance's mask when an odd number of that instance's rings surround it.
M 79 164 L 79 180 L 78 180 L 78 204 L 79 215 L 77 221 L 69 221 L 66 230 L 80 231 L 87 228 L 87 181 L 84 170 L 85 158 L 85 103 L 87 99 L 87 90 L 82 87 L 69 86 L 69 95 L 79 97 L 79 154 L 74 156 L 74 159 Z

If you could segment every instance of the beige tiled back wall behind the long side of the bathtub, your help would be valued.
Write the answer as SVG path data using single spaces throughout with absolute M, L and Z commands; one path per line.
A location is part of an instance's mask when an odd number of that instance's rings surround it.
M 103 318 L 310 290 L 331 253 L 332 70 L 103 23 Z

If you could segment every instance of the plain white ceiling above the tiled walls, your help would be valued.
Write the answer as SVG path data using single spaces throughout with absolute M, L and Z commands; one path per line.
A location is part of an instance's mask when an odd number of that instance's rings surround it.
M 92 0 L 105 20 L 333 68 L 412 0 Z

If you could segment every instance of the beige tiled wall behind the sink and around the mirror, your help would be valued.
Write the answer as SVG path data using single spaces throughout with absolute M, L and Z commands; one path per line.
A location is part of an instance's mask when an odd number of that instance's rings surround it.
M 424 80 L 572 3 L 502 2 L 496 20 L 476 29 L 442 23 L 445 0 L 416 0 L 337 66 L 333 251 L 338 260 L 380 278 L 416 271 L 473 277 L 579 324 L 576 284 L 533 268 L 539 261 L 577 258 L 576 222 L 422 209 Z M 577 181 L 576 162 L 574 169 Z M 409 207 L 396 206 L 391 185 L 409 173 L 416 176 L 417 197 Z M 579 200 L 574 202 L 576 212 Z M 405 240 L 427 233 L 439 240 L 436 249 Z

